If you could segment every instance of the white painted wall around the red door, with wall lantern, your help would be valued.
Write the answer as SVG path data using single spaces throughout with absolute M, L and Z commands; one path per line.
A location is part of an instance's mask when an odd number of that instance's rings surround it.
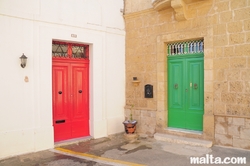
M 123 0 L 0 0 L 0 158 L 54 147 L 53 39 L 90 44 L 91 136 L 123 131 L 122 8 Z

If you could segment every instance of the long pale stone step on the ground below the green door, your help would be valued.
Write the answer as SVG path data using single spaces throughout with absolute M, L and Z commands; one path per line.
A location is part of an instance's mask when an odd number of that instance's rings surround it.
M 186 137 L 170 135 L 170 134 L 162 134 L 162 133 L 155 133 L 154 138 L 159 141 L 200 146 L 200 147 L 206 147 L 206 148 L 210 148 L 213 145 L 212 141 L 195 139 L 195 138 L 186 138 Z

